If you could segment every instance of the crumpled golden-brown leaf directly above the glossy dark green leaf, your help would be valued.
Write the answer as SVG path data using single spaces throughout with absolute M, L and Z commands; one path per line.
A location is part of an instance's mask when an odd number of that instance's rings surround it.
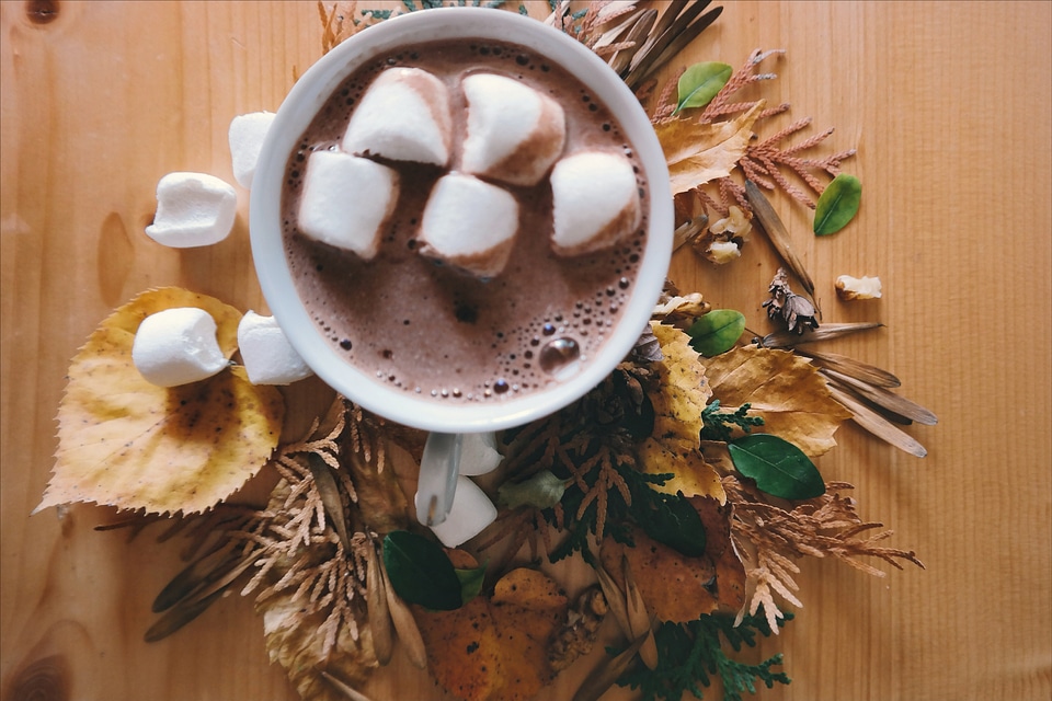
M 833 434 L 851 413 L 833 399 L 825 379 L 787 350 L 734 348 L 706 361 L 713 395 L 727 411 L 745 404 L 763 417 L 764 433 L 796 445 L 809 457 L 836 445 Z

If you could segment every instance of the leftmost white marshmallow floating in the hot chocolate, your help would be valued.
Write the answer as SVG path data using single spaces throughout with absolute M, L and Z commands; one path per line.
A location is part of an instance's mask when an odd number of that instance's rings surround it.
M 366 158 L 315 151 L 299 204 L 305 235 L 369 260 L 398 200 L 398 173 Z

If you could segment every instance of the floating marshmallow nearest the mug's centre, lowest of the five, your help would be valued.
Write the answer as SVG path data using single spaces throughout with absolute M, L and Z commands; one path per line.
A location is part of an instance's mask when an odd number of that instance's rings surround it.
M 481 180 L 442 176 L 424 206 L 420 252 L 478 277 L 504 269 L 518 231 L 518 203 L 507 191 Z

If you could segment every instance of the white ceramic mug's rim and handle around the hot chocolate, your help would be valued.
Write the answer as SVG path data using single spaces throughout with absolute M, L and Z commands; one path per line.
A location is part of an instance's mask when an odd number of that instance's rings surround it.
M 606 104 L 633 145 L 650 187 L 649 230 L 638 274 L 620 319 L 599 350 L 573 377 L 524 397 L 485 403 L 436 402 L 378 382 L 352 366 L 324 337 L 297 294 L 282 240 L 282 188 L 290 154 L 338 85 L 370 58 L 433 41 L 491 39 L 525 46 L 558 64 Z M 390 421 L 432 432 L 421 493 L 428 516 L 441 522 L 456 483 L 458 436 L 499 430 L 551 414 L 584 395 L 631 350 L 651 317 L 668 271 L 673 238 L 668 171 L 650 118 L 632 92 L 602 59 L 567 34 L 513 12 L 442 8 L 386 20 L 346 39 L 307 70 L 274 118 L 262 147 L 251 192 L 250 230 L 255 268 L 267 304 L 293 346 L 315 372 L 347 399 Z M 435 502 L 437 497 L 437 503 Z M 421 510 L 420 494 L 418 509 Z

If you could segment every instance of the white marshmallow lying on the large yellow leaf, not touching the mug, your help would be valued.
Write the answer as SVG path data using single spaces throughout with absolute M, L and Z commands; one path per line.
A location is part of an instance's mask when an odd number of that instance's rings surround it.
M 144 319 L 132 343 L 132 361 L 159 387 L 197 382 L 227 367 L 216 341 L 216 320 L 196 307 L 165 309 Z

